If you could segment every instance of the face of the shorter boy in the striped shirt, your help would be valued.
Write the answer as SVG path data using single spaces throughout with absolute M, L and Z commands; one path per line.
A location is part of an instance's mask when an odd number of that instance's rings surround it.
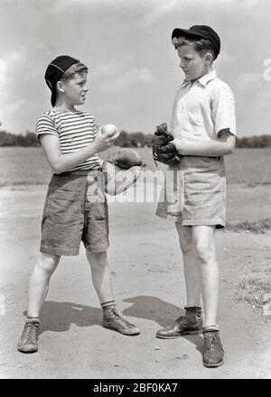
M 86 84 L 87 73 L 85 71 L 76 73 L 70 80 L 62 82 L 63 94 L 70 102 L 70 105 L 83 105 L 85 103 L 88 92 Z

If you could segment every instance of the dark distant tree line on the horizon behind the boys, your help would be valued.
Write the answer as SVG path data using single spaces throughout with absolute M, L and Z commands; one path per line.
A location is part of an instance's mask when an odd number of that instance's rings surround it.
M 127 133 L 122 130 L 115 141 L 115 145 L 120 147 L 151 147 L 153 144 L 153 134 L 143 134 L 141 132 Z M 40 146 L 36 139 L 36 134 L 27 131 L 26 134 L 11 134 L 0 131 L 0 146 Z M 237 138 L 237 147 L 259 148 L 271 146 L 271 135 L 255 135 Z

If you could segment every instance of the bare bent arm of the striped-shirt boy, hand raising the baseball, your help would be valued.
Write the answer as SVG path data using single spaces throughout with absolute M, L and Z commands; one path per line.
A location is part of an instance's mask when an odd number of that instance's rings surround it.
M 40 137 L 43 151 L 45 152 L 47 161 L 51 166 L 51 171 L 56 174 L 69 171 L 70 169 L 77 167 L 81 162 L 89 159 L 89 157 L 94 154 L 107 150 L 113 144 L 115 139 L 117 139 L 117 135 L 107 138 L 105 134 L 98 133 L 93 143 L 89 143 L 88 146 L 79 149 L 78 152 L 62 154 L 58 136 L 42 134 Z

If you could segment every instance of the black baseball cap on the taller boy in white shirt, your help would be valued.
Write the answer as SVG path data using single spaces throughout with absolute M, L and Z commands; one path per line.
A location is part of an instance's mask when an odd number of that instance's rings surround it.
M 187 37 L 188 39 L 207 39 L 210 41 L 211 46 L 214 51 L 215 59 L 218 57 L 220 53 L 220 36 L 217 32 L 210 28 L 207 25 L 194 25 L 189 29 L 179 29 L 176 28 L 173 30 L 172 39 L 174 37 Z

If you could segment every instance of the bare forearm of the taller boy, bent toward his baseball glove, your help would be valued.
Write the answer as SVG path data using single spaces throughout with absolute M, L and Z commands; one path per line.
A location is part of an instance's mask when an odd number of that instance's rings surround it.
M 203 143 L 182 143 L 182 140 L 174 138 L 172 143 L 182 156 L 218 157 L 231 154 L 236 144 L 235 135 L 230 133 L 229 128 L 225 128 L 220 130 L 218 137 L 217 141 Z

